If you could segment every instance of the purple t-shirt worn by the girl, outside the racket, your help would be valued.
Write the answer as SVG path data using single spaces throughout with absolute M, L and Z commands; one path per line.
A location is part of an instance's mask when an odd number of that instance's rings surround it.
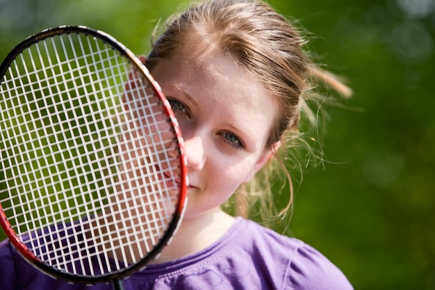
M 0 243 L 1 290 L 103 290 L 110 284 L 68 284 L 28 264 L 8 243 Z M 122 281 L 136 289 L 352 290 L 343 273 L 302 241 L 237 218 L 208 248 L 176 261 L 149 265 Z

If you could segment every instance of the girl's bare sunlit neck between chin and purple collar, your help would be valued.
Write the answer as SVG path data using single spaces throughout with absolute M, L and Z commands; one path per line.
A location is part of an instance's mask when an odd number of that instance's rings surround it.
M 213 209 L 192 218 L 184 218 L 172 242 L 150 264 L 161 264 L 199 252 L 220 239 L 235 219 L 221 209 Z

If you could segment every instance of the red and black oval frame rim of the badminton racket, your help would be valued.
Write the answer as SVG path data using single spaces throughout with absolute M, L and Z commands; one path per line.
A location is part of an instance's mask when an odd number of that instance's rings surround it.
M 114 285 L 118 285 L 118 281 L 122 280 L 132 273 L 135 273 L 136 271 L 140 271 L 143 268 L 147 266 L 149 261 L 152 259 L 156 259 L 158 255 L 160 255 L 161 250 L 172 241 L 172 238 L 174 234 L 177 233 L 177 229 L 179 225 L 181 224 L 181 219 L 183 218 L 184 211 L 186 210 L 186 202 L 187 202 L 187 186 L 188 186 L 188 168 L 187 168 L 187 161 L 186 157 L 184 156 L 184 150 L 183 150 L 183 138 L 181 136 L 181 130 L 179 129 L 179 124 L 177 122 L 177 119 L 174 116 L 174 112 L 172 111 L 170 107 L 170 103 L 167 101 L 165 95 L 163 94 L 163 91 L 161 87 L 158 85 L 158 83 L 154 80 L 153 76 L 151 76 L 149 70 L 145 65 L 140 61 L 139 58 L 137 58 L 129 49 L 127 49 L 124 45 L 122 45 L 121 42 L 118 42 L 115 38 L 113 38 L 108 33 L 105 33 L 104 31 L 99 31 L 95 29 L 91 29 L 88 26 L 58 26 L 56 28 L 51 29 L 45 29 L 41 31 L 40 33 L 36 33 L 34 35 L 28 36 L 24 41 L 19 43 L 10 53 L 6 56 L 3 63 L 0 65 L 0 84 L 3 81 L 3 76 L 6 74 L 8 68 L 10 67 L 10 64 L 13 63 L 15 58 L 19 56 L 19 54 L 24 51 L 24 49 L 30 47 L 31 45 L 40 42 L 42 40 L 45 40 L 47 38 L 54 37 L 56 35 L 61 35 L 65 33 L 84 33 L 88 35 L 92 35 L 96 38 L 99 38 L 100 40 L 103 40 L 106 42 L 110 47 L 117 50 L 122 56 L 125 56 L 129 59 L 131 64 L 136 68 L 137 72 L 142 74 L 144 76 L 144 79 L 149 83 L 152 90 L 154 90 L 154 95 L 156 95 L 161 102 L 164 103 L 164 111 L 165 114 L 170 119 L 169 122 L 171 122 L 174 126 L 174 135 L 177 138 L 177 142 L 179 143 L 179 164 L 180 164 L 180 174 L 179 176 L 183 177 L 179 181 L 180 185 L 180 191 L 179 191 L 179 198 L 176 205 L 176 211 L 174 211 L 174 216 L 169 223 L 167 230 L 165 234 L 163 234 L 163 237 L 161 240 L 154 246 L 154 248 L 146 255 L 146 257 L 142 257 L 140 261 L 136 262 L 136 264 L 132 264 L 131 266 L 128 266 L 126 268 L 123 268 L 121 271 L 115 271 L 113 273 L 107 273 L 104 275 L 99 276 L 91 276 L 91 275 L 74 275 L 72 273 L 67 273 L 64 271 L 60 271 L 57 268 L 54 268 L 52 266 L 49 266 L 44 261 L 42 261 L 39 257 L 35 256 L 34 253 L 28 249 L 25 243 L 22 242 L 22 240 L 19 238 L 13 227 L 8 222 L 8 217 L 3 211 L 3 208 L 1 207 L 0 203 L 0 225 L 3 228 L 4 232 L 6 233 L 6 236 L 8 236 L 8 239 L 10 240 L 10 243 L 17 249 L 20 255 L 24 257 L 30 264 L 35 266 L 35 268 L 40 269 L 40 271 L 46 273 L 47 275 L 54 277 L 54 278 L 60 278 L 63 280 L 66 280 L 68 282 L 78 282 L 78 283 L 85 283 L 85 284 L 97 284 L 101 282 L 106 282 Z

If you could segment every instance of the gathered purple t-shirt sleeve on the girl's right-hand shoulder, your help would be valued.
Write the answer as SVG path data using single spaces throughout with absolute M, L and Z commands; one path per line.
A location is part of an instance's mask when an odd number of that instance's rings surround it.
M 302 244 L 293 252 L 286 273 L 288 289 L 353 290 L 347 277 L 311 246 Z

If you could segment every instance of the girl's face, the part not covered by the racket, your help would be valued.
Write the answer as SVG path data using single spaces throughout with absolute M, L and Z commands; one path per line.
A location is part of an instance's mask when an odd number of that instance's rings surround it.
M 190 182 L 184 218 L 195 218 L 220 207 L 277 150 L 279 143 L 265 148 L 277 100 L 213 47 L 181 52 L 151 74 L 181 127 Z

